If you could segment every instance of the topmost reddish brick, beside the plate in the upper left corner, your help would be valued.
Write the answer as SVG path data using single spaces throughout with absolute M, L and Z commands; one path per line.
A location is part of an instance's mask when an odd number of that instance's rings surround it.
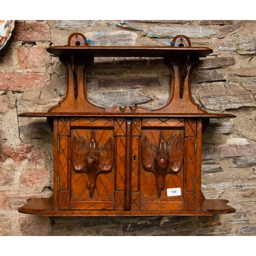
M 13 31 L 14 41 L 47 42 L 50 41 L 50 28 L 44 23 L 17 23 Z

